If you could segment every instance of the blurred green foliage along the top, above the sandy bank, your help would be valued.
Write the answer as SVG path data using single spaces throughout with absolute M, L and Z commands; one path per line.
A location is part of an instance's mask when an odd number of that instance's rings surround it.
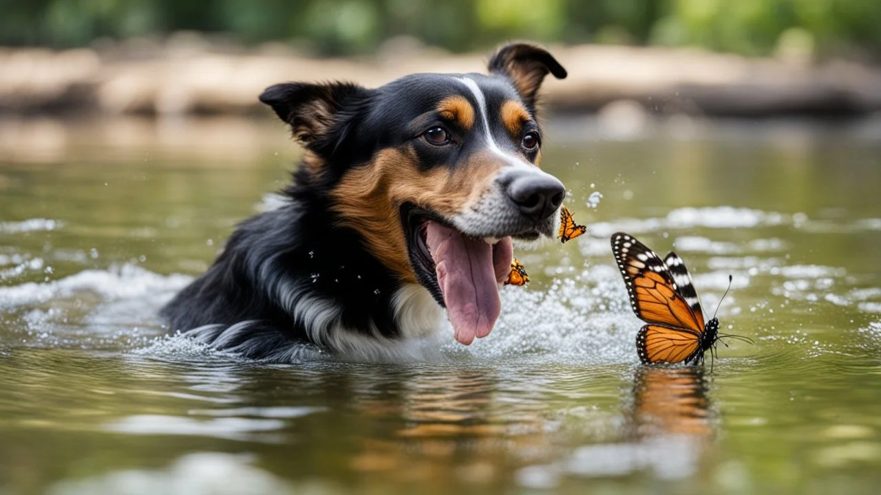
M 369 53 L 410 35 L 454 51 L 506 39 L 774 51 L 881 51 L 877 0 L 0 0 L 0 43 L 82 46 L 179 30 L 245 44 L 293 41 L 319 55 Z

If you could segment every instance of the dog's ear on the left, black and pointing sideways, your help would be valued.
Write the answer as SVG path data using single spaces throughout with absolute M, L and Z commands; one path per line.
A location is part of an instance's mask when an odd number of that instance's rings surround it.
M 356 105 L 366 95 L 366 88 L 349 83 L 283 83 L 266 88 L 260 101 L 291 125 L 295 139 L 315 146 L 333 132 L 344 109 Z

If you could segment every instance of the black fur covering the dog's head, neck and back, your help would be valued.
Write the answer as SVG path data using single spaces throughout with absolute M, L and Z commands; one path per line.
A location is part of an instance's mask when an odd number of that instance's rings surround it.
M 548 63 L 547 57 L 539 59 Z M 480 78 L 487 100 L 519 97 L 503 73 L 470 76 Z M 298 313 L 304 305 L 321 304 L 333 307 L 339 323 L 361 336 L 401 336 L 392 300 L 402 286 L 399 274 L 370 253 L 357 231 L 338 225 L 329 193 L 346 172 L 389 147 L 413 146 L 422 168 L 455 164 L 459 159 L 452 151 L 412 144 L 424 131 L 412 122 L 444 97 L 462 92 L 461 84 L 438 74 L 412 75 L 377 89 L 287 83 L 263 92 L 260 100 L 291 126 L 311 153 L 312 166 L 294 174 L 283 207 L 238 225 L 211 268 L 162 308 L 169 329 L 191 331 L 207 344 L 249 358 L 290 360 L 333 341 L 316 335 L 312 321 Z M 533 100 L 526 100 L 530 111 Z M 507 136 L 500 122 L 492 127 Z M 463 146 L 456 152 L 470 151 Z

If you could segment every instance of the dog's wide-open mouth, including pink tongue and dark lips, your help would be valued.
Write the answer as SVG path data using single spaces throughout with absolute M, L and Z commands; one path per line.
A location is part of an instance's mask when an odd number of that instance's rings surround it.
M 511 236 L 473 237 L 409 203 L 401 208 L 401 220 L 419 284 L 447 308 L 455 339 L 467 345 L 489 335 L 501 312 L 499 284 L 514 257 Z

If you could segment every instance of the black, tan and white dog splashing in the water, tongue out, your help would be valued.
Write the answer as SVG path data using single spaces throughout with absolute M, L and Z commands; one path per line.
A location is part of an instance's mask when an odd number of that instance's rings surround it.
M 566 196 L 539 168 L 536 116 L 544 78 L 566 70 L 510 43 L 488 72 L 267 88 L 305 148 L 285 202 L 237 226 L 161 309 L 167 328 L 280 362 L 396 360 L 450 326 L 461 344 L 487 336 L 512 240 L 552 238 Z

